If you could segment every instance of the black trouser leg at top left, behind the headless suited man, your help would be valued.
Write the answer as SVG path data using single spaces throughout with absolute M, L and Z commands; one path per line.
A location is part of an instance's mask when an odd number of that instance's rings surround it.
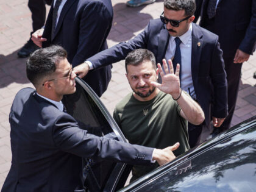
M 46 17 L 45 4 L 51 5 L 52 0 L 29 0 L 29 9 L 32 13 L 33 32 L 44 26 Z

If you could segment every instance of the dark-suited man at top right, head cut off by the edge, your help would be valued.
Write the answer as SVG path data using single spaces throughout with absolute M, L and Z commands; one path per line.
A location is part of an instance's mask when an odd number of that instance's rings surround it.
M 229 115 L 216 132 L 229 129 L 235 111 L 243 62 L 254 52 L 256 0 L 196 0 L 196 20 L 219 36 L 227 73 Z

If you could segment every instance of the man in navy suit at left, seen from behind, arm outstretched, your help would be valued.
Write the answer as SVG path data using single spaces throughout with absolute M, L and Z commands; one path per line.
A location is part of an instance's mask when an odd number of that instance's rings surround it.
M 76 91 L 72 66 L 60 46 L 38 49 L 27 60 L 27 77 L 10 111 L 12 166 L 5 191 L 83 191 L 82 157 L 160 165 L 175 158 L 179 143 L 153 149 L 96 137 L 63 112 L 63 94 Z

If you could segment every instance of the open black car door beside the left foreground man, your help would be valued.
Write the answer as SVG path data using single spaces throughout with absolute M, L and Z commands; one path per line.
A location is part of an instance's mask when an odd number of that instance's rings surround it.
M 64 96 L 63 103 L 82 129 L 99 137 L 127 142 L 104 104 L 84 80 L 76 77 L 76 93 Z M 124 186 L 130 166 L 107 160 L 94 162 L 84 159 L 83 171 L 87 191 L 116 191 Z

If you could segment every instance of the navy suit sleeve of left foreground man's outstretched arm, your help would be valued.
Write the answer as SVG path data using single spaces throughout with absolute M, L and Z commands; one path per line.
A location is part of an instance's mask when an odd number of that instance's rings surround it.
M 65 114 L 56 119 L 52 137 L 60 151 L 94 159 L 113 160 L 128 164 L 150 165 L 153 148 L 91 135 L 80 129 L 76 120 Z

